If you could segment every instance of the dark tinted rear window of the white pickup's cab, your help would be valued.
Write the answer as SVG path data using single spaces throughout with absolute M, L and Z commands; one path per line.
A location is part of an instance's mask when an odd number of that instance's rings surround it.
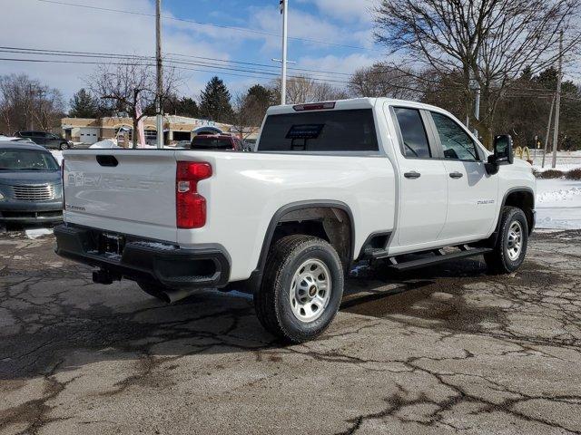
M 379 151 L 371 109 L 303 111 L 270 115 L 264 122 L 259 151 Z

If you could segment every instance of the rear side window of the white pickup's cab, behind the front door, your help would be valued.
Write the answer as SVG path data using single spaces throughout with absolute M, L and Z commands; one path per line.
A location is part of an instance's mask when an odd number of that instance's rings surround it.
M 393 111 L 401 131 L 403 155 L 411 159 L 429 159 L 432 157 L 429 150 L 428 134 L 419 110 L 395 107 Z

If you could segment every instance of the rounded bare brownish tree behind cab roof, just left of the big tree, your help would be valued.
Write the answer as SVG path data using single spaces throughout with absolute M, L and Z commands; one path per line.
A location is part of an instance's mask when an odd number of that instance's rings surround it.
M 356 97 L 418 100 L 421 96 L 418 81 L 410 70 L 399 71 L 385 63 L 356 71 L 350 78 L 349 90 Z

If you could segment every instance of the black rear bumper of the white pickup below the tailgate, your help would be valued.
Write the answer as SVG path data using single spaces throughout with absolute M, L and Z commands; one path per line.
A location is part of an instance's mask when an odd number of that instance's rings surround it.
M 221 288 L 228 284 L 230 257 L 219 245 L 182 249 L 127 236 L 123 252 L 117 255 L 100 252 L 99 237 L 103 233 L 61 225 L 54 228 L 55 252 L 133 281 L 157 281 L 171 288 Z

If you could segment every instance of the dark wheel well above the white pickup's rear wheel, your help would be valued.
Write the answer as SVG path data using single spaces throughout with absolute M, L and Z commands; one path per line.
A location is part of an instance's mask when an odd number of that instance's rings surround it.
M 352 222 L 341 208 L 300 208 L 283 215 L 274 230 L 271 246 L 281 237 L 306 234 L 327 240 L 335 248 L 345 267 L 352 260 Z

